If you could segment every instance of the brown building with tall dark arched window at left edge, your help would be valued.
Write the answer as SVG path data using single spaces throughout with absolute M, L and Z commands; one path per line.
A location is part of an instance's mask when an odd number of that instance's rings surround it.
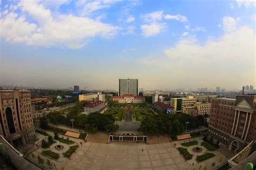
M 0 135 L 14 146 L 35 139 L 30 98 L 28 90 L 0 91 Z

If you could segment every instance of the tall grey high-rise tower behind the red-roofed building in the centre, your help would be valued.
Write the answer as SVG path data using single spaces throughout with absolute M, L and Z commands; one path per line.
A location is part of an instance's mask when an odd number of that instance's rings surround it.
M 138 78 L 119 78 L 118 96 L 124 96 L 125 94 L 133 94 L 134 96 L 138 96 L 138 87 Z

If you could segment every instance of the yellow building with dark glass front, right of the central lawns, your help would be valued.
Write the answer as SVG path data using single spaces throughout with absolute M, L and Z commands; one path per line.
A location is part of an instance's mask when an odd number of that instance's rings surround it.
M 193 96 L 188 96 L 186 98 L 171 98 L 171 106 L 174 108 L 174 113 L 184 112 L 184 107 L 193 107 L 197 102 L 197 99 Z M 192 109 L 191 109 L 192 110 Z

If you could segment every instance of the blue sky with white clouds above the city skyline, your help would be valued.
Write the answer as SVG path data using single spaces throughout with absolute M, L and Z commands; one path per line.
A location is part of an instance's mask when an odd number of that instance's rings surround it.
M 146 90 L 255 86 L 254 1 L 1 3 L 0 84 Z M 80 87 L 80 88 L 81 88 Z

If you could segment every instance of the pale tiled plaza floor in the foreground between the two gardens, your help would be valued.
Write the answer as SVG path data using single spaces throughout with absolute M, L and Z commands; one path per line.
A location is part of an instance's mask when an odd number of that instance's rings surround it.
M 65 169 L 191 169 L 191 167 L 170 143 L 119 146 L 86 142 L 72 155 L 71 160 L 66 161 Z

